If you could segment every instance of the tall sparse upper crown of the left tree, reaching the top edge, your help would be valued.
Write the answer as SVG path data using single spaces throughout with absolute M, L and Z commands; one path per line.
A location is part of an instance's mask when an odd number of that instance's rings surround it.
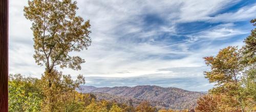
M 31 20 L 34 40 L 34 59 L 38 65 L 51 70 L 56 65 L 80 70 L 85 61 L 79 57 L 71 58 L 69 52 L 87 49 L 91 45 L 90 22 L 75 16 L 76 2 L 39 1 L 28 2 L 24 16 Z

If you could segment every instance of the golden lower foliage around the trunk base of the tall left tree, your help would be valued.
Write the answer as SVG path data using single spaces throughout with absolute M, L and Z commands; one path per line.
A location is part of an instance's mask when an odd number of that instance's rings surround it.
M 50 88 L 48 80 L 51 80 Z M 65 98 L 67 98 L 69 94 L 74 94 L 75 89 L 79 88 L 80 83 L 85 83 L 82 75 L 78 75 L 75 81 L 72 80 L 70 75 L 63 75 L 62 72 L 58 72 L 57 70 L 53 70 L 51 74 L 46 73 L 42 75 L 40 84 L 42 93 L 46 96 L 42 104 L 43 110 L 59 110 L 63 105 L 59 106 L 58 104 L 65 104 L 67 101 Z

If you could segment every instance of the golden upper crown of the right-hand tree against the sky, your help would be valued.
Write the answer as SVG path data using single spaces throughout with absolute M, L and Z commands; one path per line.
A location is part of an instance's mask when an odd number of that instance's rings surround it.
M 218 85 L 238 80 L 242 70 L 238 54 L 237 47 L 228 46 L 221 49 L 216 57 L 205 57 L 206 65 L 211 67 L 211 71 L 205 72 L 205 77 L 210 82 L 217 82 Z

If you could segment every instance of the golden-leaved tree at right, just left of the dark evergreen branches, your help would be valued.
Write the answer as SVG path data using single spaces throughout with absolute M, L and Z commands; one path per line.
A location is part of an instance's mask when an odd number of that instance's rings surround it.
M 243 67 L 239 63 L 241 56 L 237 47 L 228 46 L 221 49 L 216 57 L 205 57 L 204 59 L 206 65 L 211 67 L 210 71 L 204 72 L 205 77 L 208 78 L 209 82 L 216 83 L 215 88 L 211 89 L 210 93 L 223 95 L 231 108 L 244 110 L 242 95 L 239 92 Z

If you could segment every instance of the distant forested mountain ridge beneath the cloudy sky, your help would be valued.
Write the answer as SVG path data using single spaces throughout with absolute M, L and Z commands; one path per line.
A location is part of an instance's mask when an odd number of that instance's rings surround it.
M 103 87 L 81 86 L 82 93 L 93 93 L 97 99 L 115 100 L 128 103 L 132 100 L 135 105 L 147 100 L 159 108 L 189 109 L 196 106 L 197 99 L 205 93 L 192 92 L 179 88 L 163 88 L 159 86 L 136 87 Z

